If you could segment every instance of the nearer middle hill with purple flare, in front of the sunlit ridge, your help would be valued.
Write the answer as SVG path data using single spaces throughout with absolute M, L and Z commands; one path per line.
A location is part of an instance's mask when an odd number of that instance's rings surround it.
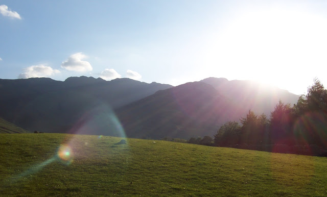
M 116 111 L 127 136 L 189 138 L 213 135 L 219 125 L 244 110 L 211 85 L 186 83 L 161 90 Z

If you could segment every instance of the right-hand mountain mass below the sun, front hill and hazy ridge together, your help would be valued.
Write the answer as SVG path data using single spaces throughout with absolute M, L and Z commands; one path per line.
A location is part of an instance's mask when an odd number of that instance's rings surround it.
M 208 78 L 160 90 L 116 110 L 128 137 L 190 138 L 213 136 L 226 121 L 249 109 L 269 117 L 279 99 L 296 103 L 298 95 L 276 88 L 262 89 L 249 81 Z

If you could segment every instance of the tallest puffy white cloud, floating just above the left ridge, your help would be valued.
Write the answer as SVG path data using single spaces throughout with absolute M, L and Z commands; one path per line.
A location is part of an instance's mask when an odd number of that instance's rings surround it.
M 87 61 L 82 61 L 82 59 L 87 58 L 83 53 L 76 53 L 68 57 L 68 60 L 62 62 L 61 67 L 66 70 L 86 72 L 91 71 L 93 68 L 91 64 Z

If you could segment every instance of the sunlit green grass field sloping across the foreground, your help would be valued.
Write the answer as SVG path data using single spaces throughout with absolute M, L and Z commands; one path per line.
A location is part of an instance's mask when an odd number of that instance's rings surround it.
M 0 135 L 1 195 L 326 195 L 327 159 L 141 139 Z M 74 161 L 49 162 L 60 143 Z M 43 165 L 40 165 L 42 164 Z

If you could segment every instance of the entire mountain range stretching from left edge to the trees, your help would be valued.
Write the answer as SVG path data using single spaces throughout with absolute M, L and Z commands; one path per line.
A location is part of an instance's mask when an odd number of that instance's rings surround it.
M 0 80 L 0 117 L 30 130 L 135 138 L 213 136 L 248 110 L 268 117 L 298 95 L 251 81 L 208 78 L 173 87 L 131 79 Z

